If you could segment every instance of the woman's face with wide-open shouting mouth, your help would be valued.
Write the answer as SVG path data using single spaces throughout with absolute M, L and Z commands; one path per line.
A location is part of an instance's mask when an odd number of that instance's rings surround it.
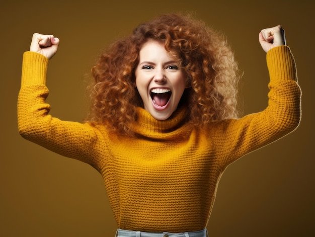
M 157 120 L 168 119 L 184 93 L 185 73 L 163 43 L 149 40 L 142 46 L 135 77 L 144 109 Z

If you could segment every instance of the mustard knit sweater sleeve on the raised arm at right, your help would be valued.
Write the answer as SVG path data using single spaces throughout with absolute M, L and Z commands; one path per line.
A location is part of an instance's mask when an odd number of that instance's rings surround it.
M 300 122 L 301 90 L 290 48 L 275 47 L 266 57 L 270 75 L 267 108 L 241 119 L 222 121 L 212 134 L 223 167 L 287 135 Z

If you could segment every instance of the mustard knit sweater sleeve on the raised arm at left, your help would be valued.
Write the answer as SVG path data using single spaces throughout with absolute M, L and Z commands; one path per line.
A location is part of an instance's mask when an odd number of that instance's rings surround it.
M 25 52 L 22 63 L 21 89 L 18 97 L 18 127 L 22 137 L 61 155 L 97 167 L 96 146 L 101 133 L 89 124 L 61 121 L 49 115 L 45 102 L 48 58 Z

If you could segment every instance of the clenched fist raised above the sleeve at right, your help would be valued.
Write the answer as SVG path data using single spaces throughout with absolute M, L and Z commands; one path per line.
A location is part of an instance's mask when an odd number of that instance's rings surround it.
M 285 45 L 284 29 L 280 25 L 263 29 L 259 33 L 259 43 L 266 53 L 274 47 Z

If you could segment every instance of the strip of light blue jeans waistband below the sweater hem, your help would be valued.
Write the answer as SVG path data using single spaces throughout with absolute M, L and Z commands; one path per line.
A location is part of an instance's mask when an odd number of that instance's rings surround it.
M 182 232 L 182 233 L 170 233 L 170 232 L 141 232 L 117 229 L 116 237 L 207 237 L 207 229 Z

